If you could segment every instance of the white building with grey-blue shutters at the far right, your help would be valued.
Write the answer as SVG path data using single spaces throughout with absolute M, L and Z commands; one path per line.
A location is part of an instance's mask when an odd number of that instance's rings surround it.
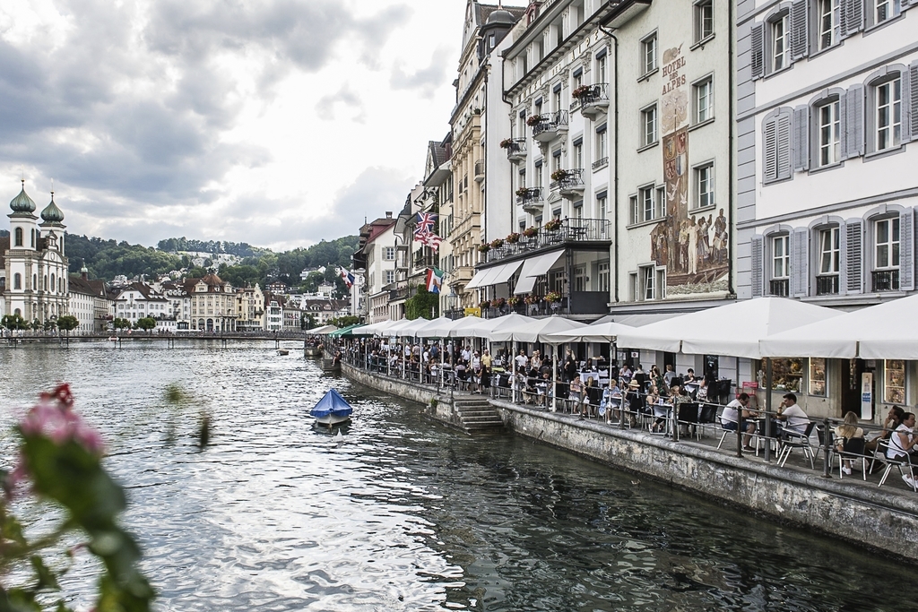
M 737 3 L 737 293 L 853 309 L 915 289 L 918 3 Z M 912 10 L 914 9 L 914 10 Z M 756 368 L 756 364 L 753 364 Z M 915 401 L 915 363 L 778 360 L 811 416 Z

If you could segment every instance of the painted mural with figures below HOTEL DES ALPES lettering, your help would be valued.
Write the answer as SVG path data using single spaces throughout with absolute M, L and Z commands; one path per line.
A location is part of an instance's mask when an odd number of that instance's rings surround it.
M 666 217 L 651 232 L 651 258 L 666 267 L 667 295 L 728 289 L 728 224 L 723 208 L 693 213 L 689 194 L 689 86 L 682 47 L 663 53 L 661 135 Z M 697 186 L 696 186 L 697 189 Z M 705 214 L 707 213 L 707 214 Z

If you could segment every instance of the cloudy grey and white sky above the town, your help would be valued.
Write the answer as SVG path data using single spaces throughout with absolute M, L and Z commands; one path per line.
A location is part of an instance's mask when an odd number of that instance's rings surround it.
M 495 2 L 496 4 L 496 2 Z M 515 0 L 508 5 L 524 5 Z M 2 0 L 0 195 L 69 231 L 275 250 L 398 210 L 465 0 Z

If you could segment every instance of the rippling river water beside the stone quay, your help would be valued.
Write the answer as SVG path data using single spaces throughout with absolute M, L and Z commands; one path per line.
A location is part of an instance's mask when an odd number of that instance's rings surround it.
M 17 414 L 70 382 L 128 489 L 158 610 L 898 610 L 918 595 L 914 568 L 882 555 L 529 440 L 468 438 L 288 348 L 4 346 L 0 462 Z M 167 405 L 168 384 L 194 402 Z M 330 385 L 354 406 L 343 442 L 308 417 Z M 68 577 L 73 603 L 93 569 Z

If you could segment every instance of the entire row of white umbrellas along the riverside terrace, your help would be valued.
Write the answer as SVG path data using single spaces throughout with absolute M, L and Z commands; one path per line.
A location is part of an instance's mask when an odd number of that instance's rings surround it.
M 764 357 L 918 360 L 918 295 L 855 312 L 781 297 L 760 297 L 667 318 L 641 328 L 603 321 L 512 313 L 484 319 L 382 321 L 361 334 L 401 338 L 483 338 L 492 342 L 615 342 L 631 349 Z

